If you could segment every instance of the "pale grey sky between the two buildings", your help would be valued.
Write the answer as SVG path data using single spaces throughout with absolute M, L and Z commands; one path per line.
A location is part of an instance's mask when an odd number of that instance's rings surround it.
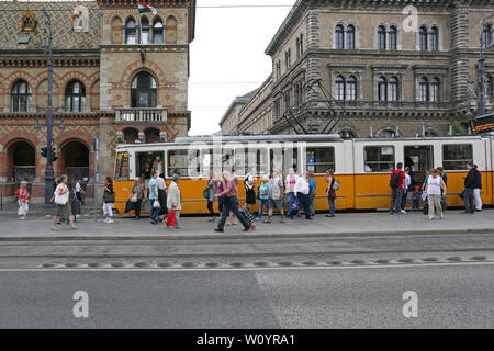
M 233 99 L 258 88 L 268 78 L 271 59 L 265 49 L 294 3 L 295 0 L 198 0 L 195 41 L 191 45 L 190 135 L 218 132 L 218 122 Z M 204 8 L 215 5 L 254 8 Z

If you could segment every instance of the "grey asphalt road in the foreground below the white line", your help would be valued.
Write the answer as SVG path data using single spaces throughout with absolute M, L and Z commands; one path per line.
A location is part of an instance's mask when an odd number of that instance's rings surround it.
M 88 293 L 88 318 L 72 295 Z M 417 293 L 418 317 L 403 316 Z M 1 328 L 493 328 L 494 265 L 0 271 Z

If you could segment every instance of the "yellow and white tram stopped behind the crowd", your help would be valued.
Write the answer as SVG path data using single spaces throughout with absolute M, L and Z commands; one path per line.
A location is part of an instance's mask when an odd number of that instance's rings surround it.
M 183 214 L 206 214 L 210 171 L 233 171 L 239 183 L 239 200 L 245 201 L 245 176 L 254 168 L 257 183 L 273 170 L 290 168 L 297 174 L 313 171 L 317 182 L 316 211 L 327 210 L 324 174 L 334 169 L 340 183 L 337 210 L 380 210 L 390 203 L 390 169 L 402 162 L 412 169 L 413 184 L 422 185 L 426 172 L 444 167 L 448 176 L 448 205 L 461 206 L 456 196 L 463 190 L 467 162 L 473 161 L 482 173 L 482 202 L 493 204 L 494 134 L 483 136 L 356 138 L 339 135 L 261 135 L 184 137 L 175 143 L 133 144 L 116 147 L 114 189 L 115 208 L 123 213 L 135 178 L 145 173 L 146 163 L 156 156 L 164 160 L 167 183 L 173 173 L 181 177 Z M 144 207 L 144 212 L 149 206 Z

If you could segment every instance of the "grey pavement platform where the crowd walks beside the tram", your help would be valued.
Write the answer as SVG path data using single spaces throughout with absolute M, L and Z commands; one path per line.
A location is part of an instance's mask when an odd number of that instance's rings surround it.
M 0 241 L 7 240 L 183 240 L 183 239 L 245 239 L 245 238 L 310 238 L 347 236 L 408 236 L 485 233 L 494 235 L 494 211 L 484 210 L 474 215 L 449 211 L 442 220 L 428 220 L 420 213 L 389 215 L 388 213 L 349 213 L 335 218 L 316 215 L 313 220 L 285 219 L 279 216 L 272 224 L 258 223 L 254 231 L 243 233 L 242 225 L 225 226 L 224 234 L 213 231 L 215 224 L 209 217 L 183 217 L 181 229 L 153 226 L 149 218 L 115 218 L 112 225 L 102 219 L 98 223 L 88 216 L 78 220 L 78 230 L 65 224 L 59 230 L 50 230 L 52 217 L 30 214 L 26 220 L 19 220 L 15 213 L 1 217 Z M 217 223 L 217 222 L 216 222 Z

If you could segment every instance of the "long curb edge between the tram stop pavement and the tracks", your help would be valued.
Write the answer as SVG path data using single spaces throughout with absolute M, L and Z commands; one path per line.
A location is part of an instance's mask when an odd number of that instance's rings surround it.
M 441 229 L 441 230 L 403 230 L 364 231 L 364 233 L 294 233 L 294 234 L 231 234 L 231 235 L 192 235 L 192 236 L 46 236 L 46 237 L 0 237 L 0 242 L 9 241 L 188 241 L 188 240 L 255 240 L 255 239 L 306 239 L 306 238 L 348 238 L 348 237 L 407 237 L 431 235 L 494 234 L 494 228 L 482 229 Z

